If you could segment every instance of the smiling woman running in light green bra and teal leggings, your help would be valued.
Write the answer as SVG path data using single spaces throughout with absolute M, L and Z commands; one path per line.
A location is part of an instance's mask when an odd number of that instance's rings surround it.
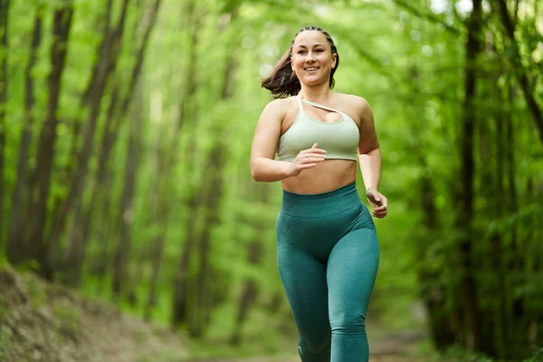
M 373 216 L 386 216 L 377 191 L 381 154 L 363 98 L 331 89 L 339 56 L 329 33 L 301 29 L 262 80 L 272 100 L 252 140 L 256 181 L 281 181 L 277 258 L 300 333 L 303 362 L 368 360 L 367 304 L 379 245 L 355 186 L 357 159 Z

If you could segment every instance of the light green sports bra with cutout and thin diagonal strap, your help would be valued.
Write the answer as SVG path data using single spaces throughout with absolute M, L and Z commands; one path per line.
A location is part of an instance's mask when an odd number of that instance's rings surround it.
M 300 110 L 291 127 L 279 138 L 277 158 L 281 161 L 292 161 L 302 149 L 311 148 L 317 142 L 319 148 L 327 151 L 327 159 L 356 161 L 359 138 L 357 123 L 339 110 L 333 110 L 310 100 L 300 100 L 299 96 L 295 98 Z M 335 122 L 311 119 L 303 110 L 301 102 L 337 112 L 341 115 L 341 119 Z

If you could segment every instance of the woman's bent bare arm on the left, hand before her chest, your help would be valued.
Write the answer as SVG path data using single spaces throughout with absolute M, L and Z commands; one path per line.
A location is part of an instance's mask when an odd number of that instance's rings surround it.
M 317 145 L 305 152 L 301 151 L 292 162 L 273 159 L 281 137 L 286 106 L 285 100 L 272 100 L 262 110 L 251 148 L 251 174 L 255 181 L 274 182 L 298 176 L 303 169 L 315 167 L 317 162 L 325 159 L 322 154 L 324 151 L 316 148 Z

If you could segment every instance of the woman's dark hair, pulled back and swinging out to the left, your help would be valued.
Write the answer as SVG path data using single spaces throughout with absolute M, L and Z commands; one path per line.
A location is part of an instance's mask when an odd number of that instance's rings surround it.
M 283 54 L 281 60 L 275 64 L 273 69 L 271 69 L 268 76 L 261 81 L 262 88 L 270 90 L 271 94 L 273 94 L 273 98 L 295 96 L 300 91 L 300 81 L 298 80 L 298 77 L 296 77 L 294 71 L 291 69 L 292 45 L 294 44 L 294 40 L 299 33 L 309 30 L 316 30 L 323 33 L 324 36 L 326 36 L 326 40 L 329 42 L 330 47 L 332 48 L 332 54 L 336 54 L 336 66 L 332 68 L 332 71 L 330 72 L 329 84 L 330 89 L 334 88 L 334 73 L 338 70 L 339 66 L 338 49 L 336 48 L 336 45 L 334 44 L 334 41 L 329 33 L 324 31 L 322 28 L 319 28 L 319 26 L 307 26 L 300 29 L 300 31 L 294 35 L 291 47 Z

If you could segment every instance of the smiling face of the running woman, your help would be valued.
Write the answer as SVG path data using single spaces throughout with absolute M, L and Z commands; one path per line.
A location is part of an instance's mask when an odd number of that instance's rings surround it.
M 292 43 L 292 71 L 307 85 L 328 84 L 337 57 L 326 36 L 317 30 L 299 33 Z

